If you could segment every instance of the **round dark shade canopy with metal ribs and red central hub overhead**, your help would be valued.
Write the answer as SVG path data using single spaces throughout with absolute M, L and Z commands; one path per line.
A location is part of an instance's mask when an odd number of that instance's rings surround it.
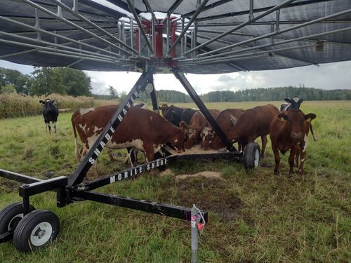
M 2 0 L 0 59 L 194 74 L 345 61 L 351 1 Z

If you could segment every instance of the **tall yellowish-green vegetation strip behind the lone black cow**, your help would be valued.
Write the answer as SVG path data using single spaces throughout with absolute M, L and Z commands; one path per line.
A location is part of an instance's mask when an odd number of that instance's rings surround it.
M 46 98 L 55 100 L 58 109 L 67 109 L 69 112 L 94 106 L 93 97 L 72 97 L 59 94 L 22 96 L 16 93 L 3 93 L 0 94 L 0 119 L 41 114 L 43 107 L 39 100 Z

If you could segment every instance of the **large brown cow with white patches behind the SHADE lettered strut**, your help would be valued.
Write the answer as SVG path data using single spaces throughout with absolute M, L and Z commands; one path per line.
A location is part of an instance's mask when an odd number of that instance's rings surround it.
M 109 105 L 74 112 L 71 121 L 77 161 L 86 155 L 117 108 L 118 105 Z M 76 130 L 81 138 L 81 154 L 78 150 Z M 185 151 L 184 140 L 184 130 L 168 123 L 156 112 L 131 107 L 106 147 L 140 149 L 145 151 L 147 161 L 152 161 L 154 153 L 159 151 L 162 144 L 170 143 L 178 152 Z M 96 167 L 94 167 L 94 175 L 98 177 Z

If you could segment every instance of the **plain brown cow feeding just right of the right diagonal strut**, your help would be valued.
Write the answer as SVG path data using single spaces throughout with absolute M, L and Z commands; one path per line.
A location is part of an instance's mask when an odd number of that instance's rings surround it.
M 241 115 L 237 124 L 227 131 L 227 137 L 231 142 L 241 144 L 242 149 L 245 149 L 246 144 L 249 142 L 254 142 L 257 137 L 261 137 L 261 157 L 263 158 L 265 157 L 267 135 L 270 133 L 270 122 L 277 114 L 279 114 L 279 110 L 272 104 L 247 109 Z M 213 144 L 221 143 L 218 136 L 216 140 L 213 140 Z

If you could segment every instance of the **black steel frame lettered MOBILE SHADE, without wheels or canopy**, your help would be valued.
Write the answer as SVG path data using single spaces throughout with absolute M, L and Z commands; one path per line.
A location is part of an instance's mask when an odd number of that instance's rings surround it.
M 176 154 L 171 155 L 166 151 L 167 156 L 150 161 L 140 166 L 134 168 L 129 168 L 126 170 L 119 171 L 112 175 L 102 177 L 98 180 L 93 180 L 90 182 L 83 182 L 86 173 L 89 168 L 93 166 L 96 159 L 100 155 L 101 151 L 104 149 L 107 141 L 110 140 L 112 134 L 117 129 L 119 123 L 126 116 L 128 109 L 131 108 L 133 101 L 139 97 L 139 94 L 145 91 L 145 87 L 150 83 L 153 85 L 153 74 L 156 72 L 156 67 L 150 67 L 145 69 L 143 74 L 141 74 L 138 81 L 128 93 L 123 102 L 119 105 L 119 108 L 112 116 L 112 119 L 107 123 L 104 130 L 100 134 L 100 137 L 95 141 L 91 149 L 89 149 L 88 154 L 81 161 L 77 169 L 69 177 L 60 176 L 49 180 L 40 180 L 38 178 L 29 177 L 27 175 L 21 175 L 19 173 L 13 173 L 8 170 L 0 169 L 0 176 L 5 177 L 9 180 L 15 180 L 18 182 L 23 182 L 24 184 L 19 187 L 20 196 L 22 197 L 22 208 L 23 216 L 31 212 L 31 205 L 29 201 L 30 196 L 36 194 L 44 193 L 46 191 L 56 191 L 57 193 L 57 206 L 59 208 L 65 207 L 69 203 L 76 201 L 95 201 L 99 203 L 107 203 L 114 206 L 120 206 L 124 208 L 131 208 L 134 210 L 141 210 L 147 213 L 154 213 L 158 215 L 166 215 L 168 217 L 175 217 L 178 219 L 183 219 L 187 221 L 192 221 L 192 228 L 195 227 L 195 222 L 205 223 L 208 221 L 208 213 L 200 211 L 193 208 L 185 208 L 178 205 L 167 205 L 163 203 L 157 203 L 152 201 L 139 200 L 135 198 L 115 196 L 111 194 L 101 194 L 95 191 L 99 187 L 105 186 L 107 184 L 112 184 L 114 182 L 119 182 L 121 180 L 128 180 L 135 175 L 144 173 L 145 171 L 151 170 L 153 168 L 159 168 L 161 166 L 166 166 L 166 164 L 180 160 L 180 159 L 230 159 L 233 161 L 243 161 L 244 153 L 237 151 L 232 145 L 232 142 L 227 139 L 225 134 L 213 119 L 211 114 L 204 103 L 200 100 L 199 96 L 192 88 L 191 84 L 185 78 L 185 75 L 181 72 L 173 72 L 180 83 L 183 84 L 184 88 L 192 97 L 192 100 L 197 104 L 202 114 L 211 124 L 216 133 L 220 136 L 220 139 L 226 146 L 226 150 L 218 153 L 211 154 Z M 152 105 L 154 110 L 157 110 L 157 100 L 154 93 L 154 87 L 151 91 Z M 252 158 L 251 158 L 252 159 Z M 258 161 L 257 161 L 258 163 Z M 204 222 L 203 222 L 204 221 Z M 192 231 L 193 236 L 194 231 Z M 0 233 L 0 243 L 10 241 L 13 238 L 14 230 L 5 231 L 5 233 Z M 197 238 L 196 238 L 197 240 Z M 197 242 L 197 241 L 196 241 Z M 194 242 L 192 242 L 193 244 Z M 197 247 L 197 245 L 196 245 Z

